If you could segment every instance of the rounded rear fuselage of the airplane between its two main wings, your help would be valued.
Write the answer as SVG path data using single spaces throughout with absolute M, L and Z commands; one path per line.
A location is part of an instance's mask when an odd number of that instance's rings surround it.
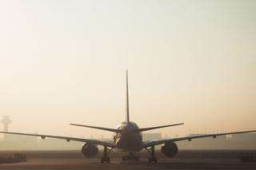
M 138 125 L 134 122 L 122 122 L 118 125 L 118 129 L 122 129 L 122 132 L 117 132 L 114 135 L 114 143 L 118 149 L 138 152 L 142 150 L 142 133 L 136 132 Z

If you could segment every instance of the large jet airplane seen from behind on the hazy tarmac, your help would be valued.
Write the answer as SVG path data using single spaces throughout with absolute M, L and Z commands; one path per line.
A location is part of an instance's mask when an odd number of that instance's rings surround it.
M 62 139 L 66 141 L 74 140 L 85 143 L 82 145 L 82 154 L 88 158 L 94 157 L 98 154 L 98 145 L 103 146 L 103 156 L 101 158 L 101 163 L 110 163 L 110 157 L 108 154 L 113 149 L 118 149 L 124 152 L 128 152 L 127 155 L 122 156 L 122 160 L 139 160 L 139 156 L 136 156 L 136 152 L 142 151 L 142 149 L 146 149 L 147 152 L 150 153 L 148 158 L 149 163 L 157 163 L 158 158 L 155 156 L 154 147 L 155 145 L 162 144 L 161 152 L 163 155 L 167 157 L 173 157 L 178 153 L 178 145 L 175 142 L 181 140 L 194 140 L 202 137 L 213 137 L 217 136 L 225 136 L 230 134 L 239 134 L 246 132 L 256 132 L 256 130 L 250 131 L 240 131 L 240 132 L 223 132 L 223 133 L 214 133 L 214 134 L 206 134 L 206 135 L 198 135 L 198 136 L 184 136 L 184 137 L 176 137 L 164 140 L 150 140 L 143 141 L 142 140 L 142 132 L 156 129 L 156 128 L 166 128 L 170 126 L 183 125 L 183 123 L 173 124 L 173 125 L 162 125 L 150 128 L 138 128 L 138 125 L 133 121 L 130 121 L 130 113 L 129 113 L 129 93 L 128 93 L 128 71 L 126 70 L 126 121 L 123 121 L 117 128 L 103 128 L 91 125 L 79 125 L 79 124 L 70 124 L 74 126 L 86 127 L 86 128 L 96 128 L 104 131 L 114 132 L 114 140 L 113 141 L 105 141 L 105 140 L 92 140 L 92 139 L 84 139 L 84 138 L 76 138 L 70 136 L 52 136 L 52 135 L 43 135 L 43 134 L 31 134 L 31 133 L 21 133 L 21 132 L 0 132 L 14 135 L 24 135 L 24 136 L 40 136 L 42 139 L 48 138 L 56 138 Z

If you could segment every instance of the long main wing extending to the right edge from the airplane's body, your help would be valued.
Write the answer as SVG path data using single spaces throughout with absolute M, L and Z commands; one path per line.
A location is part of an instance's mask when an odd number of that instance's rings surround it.
M 215 133 L 215 134 L 207 134 L 207 135 L 198 135 L 198 136 L 185 136 L 185 137 L 178 137 L 173 139 L 166 139 L 166 140 L 151 140 L 151 141 L 145 141 L 143 144 L 143 148 L 151 147 L 158 144 L 164 144 L 166 142 L 175 142 L 175 141 L 181 141 L 181 140 L 193 140 L 197 138 L 202 137 L 213 137 L 216 138 L 217 136 L 224 136 L 224 135 L 232 135 L 232 134 L 239 134 L 239 133 L 246 133 L 246 132 L 256 132 L 256 130 L 251 131 L 242 131 L 242 132 L 223 132 L 223 133 Z

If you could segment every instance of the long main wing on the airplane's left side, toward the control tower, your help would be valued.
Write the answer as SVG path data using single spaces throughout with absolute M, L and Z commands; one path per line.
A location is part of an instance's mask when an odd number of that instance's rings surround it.
M 68 137 L 68 136 L 52 136 L 52 135 L 41 135 L 41 134 L 22 133 L 22 132 L 0 132 L 0 133 L 13 134 L 13 135 L 23 135 L 23 136 L 39 136 L 42 139 L 45 139 L 46 137 L 49 137 L 49 138 L 66 140 L 68 142 L 70 140 L 74 140 L 74 141 L 79 141 L 79 142 L 99 144 L 99 145 L 107 146 L 107 147 L 111 147 L 111 148 L 115 147 L 114 142 L 111 142 L 111 141 L 89 140 L 89 139 L 76 138 L 76 137 Z

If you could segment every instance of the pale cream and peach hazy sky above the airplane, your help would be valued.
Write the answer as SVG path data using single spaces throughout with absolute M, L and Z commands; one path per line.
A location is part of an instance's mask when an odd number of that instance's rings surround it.
M 10 131 L 110 136 L 256 129 L 256 1 L 0 1 L 0 118 Z M 2 129 L 2 125 L 0 125 Z

